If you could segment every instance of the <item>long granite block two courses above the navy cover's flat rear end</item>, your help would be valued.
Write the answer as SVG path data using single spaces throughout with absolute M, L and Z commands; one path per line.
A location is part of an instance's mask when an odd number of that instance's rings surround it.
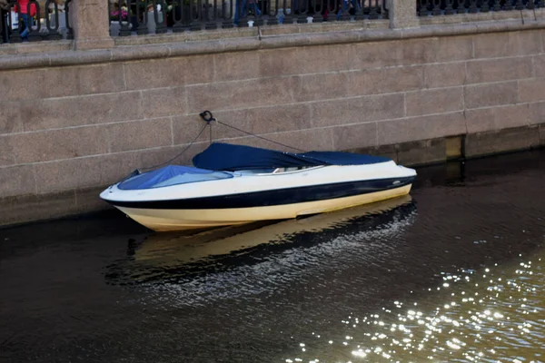
M 402 93 L 391 93 L 312 103 L 312 125 L 337 126 L 403 117 L 405 103 Z

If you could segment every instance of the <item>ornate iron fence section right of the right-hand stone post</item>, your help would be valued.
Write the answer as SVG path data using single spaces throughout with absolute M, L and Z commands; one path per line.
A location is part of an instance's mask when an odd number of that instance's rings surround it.
M 417 0 L 420 16 L 500 12 L 545 7 L 545 0 Z

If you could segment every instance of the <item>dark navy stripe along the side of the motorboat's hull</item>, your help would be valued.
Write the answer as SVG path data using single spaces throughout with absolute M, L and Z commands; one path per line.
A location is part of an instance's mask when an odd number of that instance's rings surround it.
M 326 201 L 352 197 L 376 191 L 387 191 L 411 184 L 414 177 L 377 179 L 362 182 L 339 182 L 335 184 L 311 185 L 272 191 L 253 191 L 213 197 L 178 199 L 170 201 L 108 201 L 116 207 L 150 210 L 208 210 L 228 208 L 268 207 L 302 203 L 305 201 Z M 394 182 L 396 182 L 394 184 Z

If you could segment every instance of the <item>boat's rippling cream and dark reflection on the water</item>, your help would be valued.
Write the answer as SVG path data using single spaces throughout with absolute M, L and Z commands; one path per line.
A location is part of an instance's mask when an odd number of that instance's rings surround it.
M 269 225 L 233 226 L 193 235 L 159 233 L 137 246 L 123 268 L 112 266 L 108 276 L 114 278 L 112 282 L 163 284 L 194 282 L 229 271 L 237 274 L 240 271 L 236 270 L 250 267 L 264 271 L 292 265 L 302 269 L 345 250 L 375 249 L 373 240 L 401 231 L 415 215 L 416 206 L 407 195 Z

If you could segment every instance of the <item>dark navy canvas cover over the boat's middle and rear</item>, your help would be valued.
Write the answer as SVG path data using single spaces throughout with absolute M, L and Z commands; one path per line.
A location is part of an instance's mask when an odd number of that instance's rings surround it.
M 350 152 L 277 152 L 251 146 L 214 142 L 193 157 L 197 168 L 213 171 L 241 171 L 320 165 L 365 165 L 389 162 L 381 156 Z

